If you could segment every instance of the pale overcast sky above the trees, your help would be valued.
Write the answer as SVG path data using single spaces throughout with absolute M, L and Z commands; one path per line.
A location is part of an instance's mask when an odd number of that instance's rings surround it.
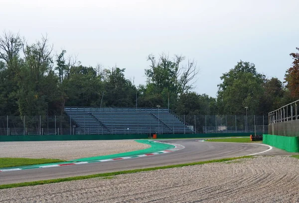
M 47 34 L 82 65 L 117 64 L 145 84 L 147 56 L 195 59 L 195 91 L 216 96 L 238 61 L 283 80 L 299 47 L 299 0 L 0 0 L 0 29 Z

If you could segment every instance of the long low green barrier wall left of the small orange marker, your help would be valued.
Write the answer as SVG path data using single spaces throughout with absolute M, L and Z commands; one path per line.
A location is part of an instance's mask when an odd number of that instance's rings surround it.
M 0 141 L 147 139 L 148 135 L 0 135 Z

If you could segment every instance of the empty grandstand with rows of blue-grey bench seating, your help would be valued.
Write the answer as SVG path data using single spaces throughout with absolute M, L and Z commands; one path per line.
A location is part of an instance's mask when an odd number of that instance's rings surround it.
M 65 107 L 76 123 L 76 134 L 181 134 L 193 133 L 166 108 Z

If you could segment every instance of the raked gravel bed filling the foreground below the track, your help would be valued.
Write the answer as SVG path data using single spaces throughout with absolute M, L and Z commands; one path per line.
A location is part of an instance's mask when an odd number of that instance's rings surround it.
M 0 190 L 1 203 L 299 203 L 299 159 L 250 159 Z

